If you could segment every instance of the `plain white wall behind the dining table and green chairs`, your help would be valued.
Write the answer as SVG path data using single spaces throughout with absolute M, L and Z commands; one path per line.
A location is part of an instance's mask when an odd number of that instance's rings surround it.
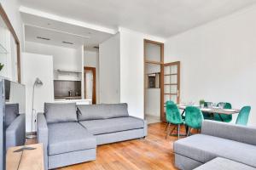
M 171 37 L 165 62 L 181 61 L 181 100 L 251 105 L 256 125 L 256 6 Z M 233 118 L 236 121 L 236 116 Z

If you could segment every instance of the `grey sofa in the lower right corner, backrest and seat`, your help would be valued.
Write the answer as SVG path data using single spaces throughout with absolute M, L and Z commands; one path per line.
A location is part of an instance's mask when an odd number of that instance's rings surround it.
M 217 157 L 255 168 L 256 127 L 204 121 L 201 134 L 179 139 L 173 148 L 175 165 L 183 170 L 194 169 Z M 219 163 L 223 164 L 224 161 Z M 208 166 L 211 166 L 211 163 L 204 167 Z

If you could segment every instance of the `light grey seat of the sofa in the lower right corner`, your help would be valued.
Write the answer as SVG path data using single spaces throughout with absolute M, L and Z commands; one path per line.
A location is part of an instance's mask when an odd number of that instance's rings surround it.
M 201 163 L 224 157 L 256 167 L 256 146 L 205 134 L 177 140 L 174 143 L 174 152 Z

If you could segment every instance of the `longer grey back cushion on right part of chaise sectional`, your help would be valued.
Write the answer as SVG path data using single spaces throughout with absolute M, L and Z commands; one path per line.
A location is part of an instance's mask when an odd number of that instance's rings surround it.
M 78 105 L 79 121 L 129 116 L 127 104 Z

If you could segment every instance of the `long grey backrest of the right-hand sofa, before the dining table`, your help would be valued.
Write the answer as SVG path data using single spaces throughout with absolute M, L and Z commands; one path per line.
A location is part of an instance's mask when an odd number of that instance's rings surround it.
M 246 127 L 226 122 L 204 121 L 202 122 L 201 133 L 256 145 L 256 127 Z

